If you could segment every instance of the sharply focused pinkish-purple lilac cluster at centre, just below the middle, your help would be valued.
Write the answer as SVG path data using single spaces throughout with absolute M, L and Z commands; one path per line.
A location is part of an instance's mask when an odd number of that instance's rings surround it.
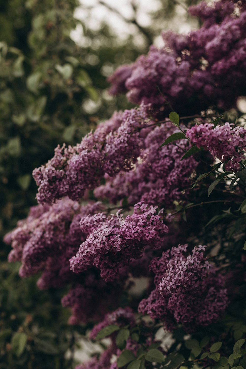
M 87 238 L 70 259 L 71 269 L 79 273 L 96 266 L 104 280 L 114 280 L 131 259 L 141 258 L 146 246 L 159 249 L 168 227 L 163 223 L 163 211 L 157 213 L 156 208 L 138 203 L 125 219 L 119 212 L 82 218 L 80 226 Z

